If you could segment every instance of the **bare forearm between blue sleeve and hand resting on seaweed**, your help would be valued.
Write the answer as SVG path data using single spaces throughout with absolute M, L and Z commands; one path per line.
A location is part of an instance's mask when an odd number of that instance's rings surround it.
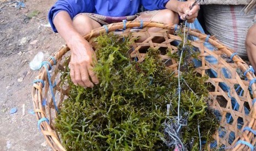
M 72 45 L 73 39 L 81 38 L 81 35 L 75 30 L 67 11 L 59 11 L 53 19 L 53 24 L 69 47 Z

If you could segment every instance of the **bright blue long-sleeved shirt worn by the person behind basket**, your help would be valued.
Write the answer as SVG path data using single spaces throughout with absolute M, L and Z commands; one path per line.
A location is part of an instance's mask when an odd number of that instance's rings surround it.
M 57 32 L 53 19 L 59 11 L 67 11 L 73 19 L 79 13 L 94 13 L 120 17 L 135 15 L 143 5 L 148 10 L 165 9 L 169 0 L 58 0 L 48 13 L 52 30 Z

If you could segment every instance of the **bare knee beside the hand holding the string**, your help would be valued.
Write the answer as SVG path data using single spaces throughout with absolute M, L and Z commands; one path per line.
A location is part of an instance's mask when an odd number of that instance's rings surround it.
M 163 9 L 160 10 L 159 13 L 157 13 L 152 21 L 162 22 L 166 24 L 178 24 L 179 18 L 178 14 L 174 11 Z

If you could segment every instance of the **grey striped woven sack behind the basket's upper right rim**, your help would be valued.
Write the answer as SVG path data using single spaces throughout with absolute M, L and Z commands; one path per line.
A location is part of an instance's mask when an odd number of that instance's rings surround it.
M 205 28 L 220 42 L 247 59 L 245 40 L 247 31 L 254 24 L 256 8 L 245 14 L 244 5 L 204 5 Z

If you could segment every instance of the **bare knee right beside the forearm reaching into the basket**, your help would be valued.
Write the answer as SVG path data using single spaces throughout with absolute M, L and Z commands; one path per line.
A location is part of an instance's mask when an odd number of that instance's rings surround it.
M 73 19 L 73 25 L 80 34 L 87 34 L 94 29 L 92 19 L 86 15 L 79 14 Z

